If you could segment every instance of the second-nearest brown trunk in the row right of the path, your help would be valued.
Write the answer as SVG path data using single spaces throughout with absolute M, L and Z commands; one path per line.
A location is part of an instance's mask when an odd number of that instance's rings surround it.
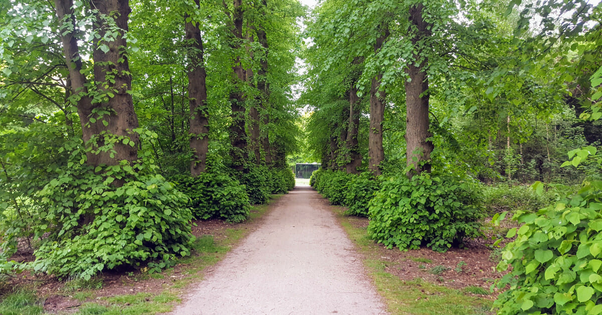
M 386 27 L 386 26 L 385 26 Z M 374 45 L 374 52 L 377 53 L 386 38 L 389 37 L 389 30 L 385 30 Z M 380 175 L 380 162 L 385 159 L 385 151 L 382 147 L 382 122 L 385 119 L 385 91 L 380 91 L 380 81 L 382 73 L 372 78 L 370 87 L 370 130 L 368 131 L 368 169 L 374 176 Z

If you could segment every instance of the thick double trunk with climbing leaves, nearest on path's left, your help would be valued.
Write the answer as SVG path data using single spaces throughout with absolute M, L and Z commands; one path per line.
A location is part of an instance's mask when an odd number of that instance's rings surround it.
M 95 20 L 93 28 L 104 37 L 107 33 L 108 23 L 101 16 L 110 16 L 117 27 L 128 31 L 128 16 L 131 12 L 127 0 L 92 1 L 98 9 L 100 16 Z M 92 102 L 87 95 L 88 84 L 82 75 L 82 63 L 75 33 L 75 18 L 73 17 L 72 0 L 55 0 L 58 19 L 67 24 L 61 31 L 63 52 L 69 69 L 69 78 L 73 94 L 82 93 L 77 108 L 82 126 L 82 138 L 93 148 L 103 146 L 102 133 L 109 136 L 128 137 L 129 141 L 114 143 L 113 151 L 99 151 L 87 153 L 87 164 L 98 166 L 101 164 L 115 165 L 121 160 L 134 161 L 138 158 L 140 140 L 134 132 L 138 128 L 138 118 L 134 112 L 131 90 L 132 78 L 129 75 L 128 58 L 124 47 L 127 46 L 123 34 L 117 34 L 111 42 L 100 42 L 93 52 L 94 76 L 98 92 L 104 94 L 108 101 Z M 67 31 L 69 30 L 69 31 Z M 67 31 L 67 32 L 66 32 Z M 65 33 L 66 32 L 66 33 Z M 106 47 L 105 47 L 106 45 Z M 105 52 L 103 49 L 108 51 Z M 91 139 L 96 139 L 90 142 Z

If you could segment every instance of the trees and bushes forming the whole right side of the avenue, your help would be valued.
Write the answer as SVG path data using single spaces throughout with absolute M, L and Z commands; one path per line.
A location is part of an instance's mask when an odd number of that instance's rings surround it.
M 518 237 L 497 267 L 506 276 L 495 310 L 602 313 L 602 269 L 587 266 L 602 258 L 601 11 L 554 0 L 320 2 L 306 22 L 300 98 L 304 157 L 322 164 L 312 186 L 401 250 L 463 246 L 485 217 L 498 224 L 510 210 L 523 226 L 507 234 Z

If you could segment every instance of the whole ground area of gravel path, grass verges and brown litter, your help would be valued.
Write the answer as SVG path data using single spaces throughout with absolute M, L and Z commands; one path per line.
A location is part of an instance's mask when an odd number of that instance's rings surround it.
M 309 202 L 312 210 L 304 214 L 303 204 Z M 343 211 L 343 207 L 330 206 L 309 187 L 300 186 L 270 205 L 254 207 L 245 223 L 195 222 L 195 254 L 162 273 L 117 270 L 90 281 L 22 275 L 25 279 L 13 279 L 0 288 L 0 294 L 14 292 L 17 287 L 30 290 L 45 313 L 59 314 L 167 313 L 174 307 L 176 314 L 199 314 L 203 301 L 218 305 L 209 311 L 211 314 L 220 313 L 218 310 L 237 313 L 228 307 L 242 305 L 241 301 L 246 301 L 247 310 L 253 301 L 262 306 L 278 301 L 272 303 L 274 310 L 257 309 L 259 313 L 281 313 L 288 307 L 299 314 L 325 310 L 358 314 L 346 307 L 366 304 L 376 314 L 385 309 L 392 314 L 492 314 L 491 303 L 499 292 L 489 288 L 501 274 L 493 269 L 500 251 L 492 250 L 491 244 L 507 228 L 485 227 L 487 236 L 469 242 L 466 249 L 401 252 L 375 244 L 365 232 L 368 220 L 343 216 Z M 341 226 L 355 244 L 349 242 Z M 327 246 L 320 247 L 323 244 Z M 312 247 L 315 245 L 320 246 Z M 256 261 L 261 257 L 263 262 Z M 333 278 L 336 280 L 330 280 Z M 250 294 L 241 293 L 244 283 L 240 281 L 247 281 Z M 228 284 L 233 287 L 228 288 Z M 209 299 L 190 295 L 199 292 L 206 296 L 214 287 L 224 294 Z M 376 294 L 366 293 L 375 292 L 375 288 L 386 306 Z M 206 292 L 200 293 L 202 290 Z M 299 296 L 303 292 L 306 296 Z M 279 296 L 282 294 L 285 296 Z M 328 304 L 329 296 L 339 301 L 366 301 Z M 186 302 L 175 306 L 182 297 Z M 313 308 L 305 308 L 307 305 Z M 205 307 L 211 306 L 201 309 Z

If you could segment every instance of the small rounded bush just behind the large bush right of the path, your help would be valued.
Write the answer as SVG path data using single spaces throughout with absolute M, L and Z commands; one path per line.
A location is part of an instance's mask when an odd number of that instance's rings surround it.
M 368 217 L 368 204 L 379 189 L 380 181 L 374 179 L 370 172 L 353 176 L 346 186 L 345 204 L 349 210 L 345 211 L 345 214 Z

